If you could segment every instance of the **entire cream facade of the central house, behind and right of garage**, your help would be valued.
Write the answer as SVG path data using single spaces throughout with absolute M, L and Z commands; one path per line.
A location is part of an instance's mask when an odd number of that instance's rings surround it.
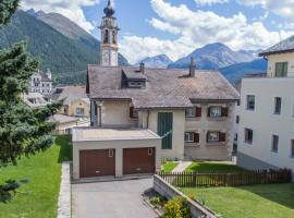
M 211 159 L 230 160 L 233 149 L 234 136 L 234 101 L 226 102 L 198 102 L 195 107 L 201 108 L 199 117 L 186 117 L 185 109 L 150 109 L 137 111 L 137 118 L 130 117 L 131 100 L 96 101 L 91 106 L 91 121 L 94 126 L 99 128 L 143 128 L 157 133 L 158 113 L 173 113 L 172 147 L 161 149 L 162 158 L 167 159 Z M 228 114 L 208 117 L 208 108 L 220 107 L 228 110 Z M 97 114 L 94 113 L 97 111 Z M 208 132 L 222 133 L 223 141 L 216 138 L 208 142 Z M 186 142 L 185 134 L 199 134 L 199 141 Z M 220 137 L 220 135 L 218 135 Z

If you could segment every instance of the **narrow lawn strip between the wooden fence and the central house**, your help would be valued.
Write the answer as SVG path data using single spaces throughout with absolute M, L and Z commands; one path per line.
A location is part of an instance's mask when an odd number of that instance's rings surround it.
M 193 171 L 242 171 L 244 169 L 229 164 L 221 164 L 221 162 L 211 162 L 211 161 L 195 161 L 193 162 L 185 172 L 193 172 Z

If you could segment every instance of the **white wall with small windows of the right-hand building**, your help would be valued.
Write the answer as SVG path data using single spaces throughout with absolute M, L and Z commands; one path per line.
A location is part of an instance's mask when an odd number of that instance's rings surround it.
M 240 166 L 256 169 L 269 165 L 294 170 L 294 158 L 290 157 L 291 140 L 294 140 L 293 87 L 292 77 L 243 78 L 238 126 Z M 254 111 L 246 110 L 246 95 L 255 95 Z M 282 97 L 281 114 L 273 114 L 275 97 Z M 245 128 L 253 130 L 253 144 L 245 143 Z M 279 135 L 278 153 L 271 152 L 273 134 Z

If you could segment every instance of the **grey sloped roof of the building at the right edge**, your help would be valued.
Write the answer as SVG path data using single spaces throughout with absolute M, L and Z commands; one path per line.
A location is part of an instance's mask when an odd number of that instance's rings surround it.
M 282 53 L 294 51 L 294 36 L 286 38 L 285 40 L 280 41 L 279 44 L 261 51 L 259 56 L 267 56 L 272 53 Z

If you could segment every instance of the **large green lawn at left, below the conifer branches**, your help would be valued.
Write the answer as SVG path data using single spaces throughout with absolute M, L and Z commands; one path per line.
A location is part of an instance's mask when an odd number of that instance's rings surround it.
M 30 158 L 23 157 L 16 167 L 0 169 L 0 183 L 8 179 L 28 179 L 8 204 L 0 203 L 0 218 L 56 218 L 61 162 L 71 160 L 70 136 L 57 137 L 56 145 Z

